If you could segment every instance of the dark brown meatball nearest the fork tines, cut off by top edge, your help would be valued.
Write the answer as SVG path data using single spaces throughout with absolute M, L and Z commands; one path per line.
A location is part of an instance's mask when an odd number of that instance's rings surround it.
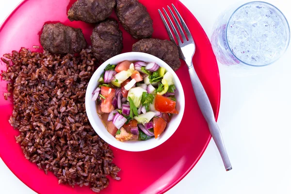
M 134 38 L 147 38 L 154 32 L 153 20 L 146 7 L 137 0 L 116 0 L 116 15 Z

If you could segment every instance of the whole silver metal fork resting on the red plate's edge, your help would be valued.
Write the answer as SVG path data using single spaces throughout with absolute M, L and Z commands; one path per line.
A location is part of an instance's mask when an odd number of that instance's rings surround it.
M 191 32 L 189 31 L 186 23 L 184 22 L 183 18 L 181 17 L 178 10 L 176 9 L 176 7 L 172 4 L 173 9 L 176 12 L 176 15 L 178 16 L 178 19 L 179 19 L 180 23 L 182 24 L 183 30 L 186 32 L 188 40 L 187 40 L 187 37 L 185 36 L 180 24 L 178 23 L 176 16 L 173 14 L 171 8 L 169 6 L 167 6 L 167 7 L 169 9 L 170 14 L 172 15 L 172 18 L 174 19 L 174 22 L 178 28 L 179 33 L 181 35 L 181 39 L 180 39 L 178 32 L 177 32 L 172 20 L 170 19 L 166 10 L 164 8 L 162 8 L 165 16 L 167 17 L 167 19 L 172 27 L 173 32 L 175 33 L 176 39 L 178 41 L 180 58 L 183 59 L 186 62 L 186 64 L 188 65 L 191 83 L 192 83 L 194 93 L 195 93 L 197 102 L 199 104 L 200 110 L 201 110 L 205 120 L 208 123 L 210 133 L 211 133 L 213 140 L 214 140 L 214 142 L 219 150 L 219 153 L 220 153 L 222 161 L 225 165 L 226 171 L 229 171 L 232 169 L 232 166 L 230 164 L 230 161 L 229 161 L 227 153 L 226 153 L 226 148 L 225 148 L 225 145 L 223 142 L 223 138 L 222 138 L 220 129 L 215 121 L 209 98 L 208 98 L 208 96 L 207 96 L 207 94 L 206 94 L 206 92 L 201 84 L 201 81 L 199 80 L 199 78 L 195 72 L 194 66 L 193 66 L 192 58 L 193 58 L 194 53 L 195 53 L 195 43 L 194 43 L 193 37 L 192 37 Z M 168 26 L 160 9 L 159 9 L 159 13 L 162 17 L 162 21 L 166 27 L 166 30 L 170 36 L 171 41 L 177 45 L 175 38 L 170 30 L 170 27 Z

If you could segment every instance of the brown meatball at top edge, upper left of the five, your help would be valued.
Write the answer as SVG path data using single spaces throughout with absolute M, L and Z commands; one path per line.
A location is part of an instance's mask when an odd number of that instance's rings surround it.
M 115 0 L 77 0 L 68 11 L 68 18 L 98 23 L 111 15 L 114 6 Z

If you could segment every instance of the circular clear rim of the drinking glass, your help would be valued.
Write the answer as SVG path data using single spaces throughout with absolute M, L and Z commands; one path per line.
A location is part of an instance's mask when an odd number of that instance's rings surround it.
M 286 21 L 286 24 L 287 24 L 287 29 L 286 29 L 286 32 L 287 32 L 287 35 L 289 33 L 289 36 L 287 37 L 287 42 L 286 42 L 286 45 L 285 45 L 285 48 L 282 50 L 282 52 L 280 53 L 280 55 L 277 57 L 277 59 L 275 59 L 275 61 L 272 61 L 271 63 L 269 64 L 265 64 L 265 65 L 251 65 L 251 64 L 247 64 L 245 62 L 243 62 L 241 59 L 239 59 L 234 53 L 233 51 L 230 49 L 229 47 L 229 44 L 228 44 L 228 39 L 227 39 L 227 29 L 228 29 L 228 25 L 229 25 L 229 21 L 230 19 L 232 18 L 232 16 L 239 10 L 241 9 L 243 6 L 247 5 L 247 4 L 251 4 L 251 3 L 263 3 L 263 4 L 267 4 L 269 6 L 272 6 L 274 7 L 284 18 L 284 20 Z M 276 6 L 274 6 L 273 4 L 271 3 L 268 3 L 268 2 L 264 2 L 264 1 L 250 1 L 250 2 L 247 2 L 247 3 L 244 3 L 242 4 L 241 6 L 239 6 L 237 9 L 235 9 L 235 11 L 231 14 L 231 16 L 228 18 L 228 21 L 227 21 L 227 24 L 226 24 L 226 33 L 225 33 L 225 36 L 226 36 L 226 45 L 227 45 L 227 48 L 230 50 L 230 52 L 232 53 L 232 55 L 241 63 L 245 64 L 245 65 L 250 65 L 250 66 L 256 66 L 256 67 L 259 67 L 259 66 L 267 66 L 267 65 L 271 65 L 273 63 L 275 63 L 277 60 L 279 60 L 281 58 L 281 56 L 286 52 L 289 44 L 290 44 L 290 26 L 289 26 L 289 23 L 288 23 L 288 20 L 286 18 L 286 16 L 281 12 L 281 10 L 279 10 Z

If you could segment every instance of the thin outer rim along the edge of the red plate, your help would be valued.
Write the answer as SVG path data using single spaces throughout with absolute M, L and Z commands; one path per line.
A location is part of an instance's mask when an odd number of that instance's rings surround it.
M 1 33 L 1 31 L 2 31 L 2 29 L 3 29 L 3 27 L 5 26 L 5 24 L 7 23 L 7 21 L 10 19 L 10 17 L 18 10 L 18 8 L 25 2 L 25 1 L 27 1 L 27 0 L 21 0 L 16 6 L 15 6 L 15 8 L 10 12 L 10 14 L 9 15 L 7 15 L 6 17 L 5 17 L 5 19 L 3 20 L 3 22 L 1 22 L 1 24 L 0 24 L 0 33 Z M 177 0 L 177 2 L 178 3 L 180 3 L 180 6 L 182 6 L 183 7 L 183 9 L 186 9 L 188 12 L 190 12 L 193 16 L 194 16 L 194 14 L 180 1 L 180 0 Z M 194 16 L 194 18 L 197 20 L 197 18 Z M 198 24 L 199 24 L 199 26 L 203 29 L 203 27 L 201 26 L 201 24 L 200 24 L 200 22 L 197 20 L 197 22 L 198 22 Z M 210 43 L 210 39 L 209 39 L 209 37 L 207 36 L 207 34 L 206 34 L 206 32 L 205 32 L 205 30 L 203 29 L 203 34 L 204 34 L 204 36 L 207 38 L 207 40 L 208 40 L 208 44 L 210 44 L 211 45 L 211 43 Z M 206 43 L 206 44 L 207 44 Z M 211 51 L 212 51 L 212 54 L 214 55 L 214 52 L 213 52 L 213 49 L 212 49 L 212 47 L 211 47 Z M 215 55 L 214 55 L 215 56 Z M 214 64 L 215 65 L 215 64 Z M 216 67 L 217 67 L 217 75 L 218 75 L 218 79 L 219 79 L 219 83 L 218 83 L 218 102 L 217 102 L 217 108 L 216 109 L 214 109 L 213 111 L 216 111 L 216 114 L 214 115 L 214 117 L 215 117 L 215 121 L 217 121 L 217 119 L 218 119 L 218 115 L 219 115 L 219 110 L 220 110 L 220 102 L 221 102 L 221 81 L 220 81 L 220 73 L 219 73 L 219 68 L 218 68 L 218 64 L 217 64 L 217 60 L 216 60 L 216 65 L 215 65 Z M 213 109 L 213 107 L 212 107 L 212 109 Z M 168 187 L 166 187 L 166 188 L 164 188 L 162 191 L 160 191 L 158 194 L 164 194 L 164 193 L 166 193 L 167 191 L 169 191 L 171 188 L 173 188 L 174 186 L 176 186 L 183 178 L 185 178 L 187 175 L 188 175 L 188 173 L 194 168 L 194 166 L 196 165 L 196 163 L 200 160 L 200 158 L 202 157 L 202 155 L 204 154 L 204 152 L 205 152 L 205 150 L 206 150 L 206 148 L 208 147 L 208 145 L 209 145 L 209 143 L 210 143 L 210 140 L 211 140 L 211 138 L 212 138 L 212 136 L 211 136 L 211 134 L 209 135 L 209 137 L 208 137 L 208 139 L 207 139 L 207 142 L 206 142 L 206 144 L 204 145 L 204 147 L 203 147 L 203 149 L 202 149 L 202 151 L 201 151 L 201 153 L 199 154 L 199 156 L 197 157 L 197 159 L 193 162 L 193 164 L 187 169 L 187 171 L 180 177 L 180 178 L 178 178 L 175 182 L 173 182 L 171 185 L 169 185 Z M 34 191 L 35 193 L 37 193 L 37 191 L 36 190 L 34 190 L 31 186 L 29 186 L 29 185 L 27 185 L 26 183 L 25 183 L 25 181 L 23 181 L 21 178 L 19 178 L 19 177 L 17 177 L 17 175 L 14 173 L 14 171 L 7 165 L 7 163 L 8 162 L 6 162 L 6 160 L 5 159 L 3 159 L 2 157 L 1 157 L 1 153 L 0 153 L 0 158 L 1 158 L 1 160 L 4 162 L 4 164 L 8 167 L 8 169 L 16 176 L 16 178 L 18 178 L 22 183 L 24 183 L 27 187 L 29 187 L 32 191 Z

